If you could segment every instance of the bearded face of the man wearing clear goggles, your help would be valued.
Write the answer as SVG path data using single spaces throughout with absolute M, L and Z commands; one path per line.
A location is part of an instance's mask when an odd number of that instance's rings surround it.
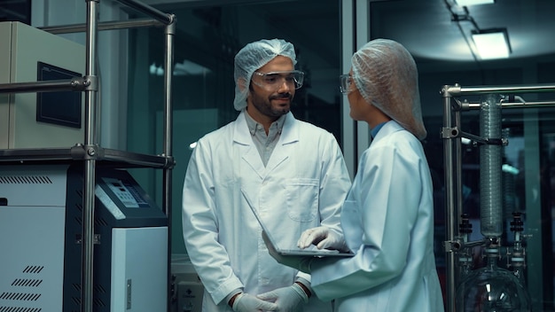
M 287 73 L 293 69 L 291 58 L 279 55 L 253 74 L 246 101 L 247 110 L 251 115 L 254 114 L 254 118 L 256 115 L 262 115 L 261 117 L 275 121 L 289 113 L 295 85 Z M 279 74 L 271 74 L 276 72 Z

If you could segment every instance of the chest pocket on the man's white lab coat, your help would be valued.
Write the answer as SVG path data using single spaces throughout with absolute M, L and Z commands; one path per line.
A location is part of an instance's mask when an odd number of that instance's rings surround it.
M 285 183 L 287 213 L 297 222 L 309 222 L 318 211 L 318 180 L 309 178 L 289 179 Z

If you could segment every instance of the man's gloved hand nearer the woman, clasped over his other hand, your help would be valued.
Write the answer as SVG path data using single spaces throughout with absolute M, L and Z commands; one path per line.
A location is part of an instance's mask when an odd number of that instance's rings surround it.
M 307 293 L 296 283 L 288 287 L 274 289 L 271 292 L 261 293 L 256 297 L 274 302 L 277 305 L 277 311 L 283 312 L 301 312 L 302 306 L 309 302 Z

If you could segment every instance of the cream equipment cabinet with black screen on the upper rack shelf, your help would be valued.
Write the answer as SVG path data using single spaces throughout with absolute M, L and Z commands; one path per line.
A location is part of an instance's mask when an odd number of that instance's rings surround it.
M 15 21 L 0 22 L 0 38 L 0 83 L 71 79 L 84 74 L 82 44 Z M 58 107 L 51 105 L 52 101 L 57 101 Z M 80 92 L 0 94 L 0 149 L 82 143 L 84 113 Z

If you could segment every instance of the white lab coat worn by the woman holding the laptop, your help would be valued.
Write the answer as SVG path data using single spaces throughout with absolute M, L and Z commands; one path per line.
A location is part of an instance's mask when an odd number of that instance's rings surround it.
M 356 252 L 312 267 L 312 287 L 339 312 L 443 311 L 434 259 L 434 205 L 418 139 L 388 121 L 363 152 L 341 226 Z

